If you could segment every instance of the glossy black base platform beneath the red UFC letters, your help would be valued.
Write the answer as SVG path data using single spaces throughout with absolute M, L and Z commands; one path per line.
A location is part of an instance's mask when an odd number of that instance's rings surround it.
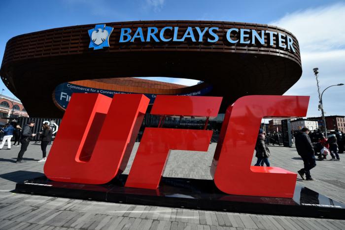
M 345 219 L 345 205 L 297 185 L 293 198 L 229 195 L 212 180 L 163 177 L 157 190 L 123 187 L 127 175 L 105 185 L 54 182 L 45 176 L 17 183 L 16 192 L 116 203 L 240 213 Z

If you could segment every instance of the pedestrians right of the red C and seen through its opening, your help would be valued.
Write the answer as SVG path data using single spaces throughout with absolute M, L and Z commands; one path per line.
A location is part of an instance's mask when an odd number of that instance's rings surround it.
M 313 180 L 310 170 L 316 166 L 315 155 L 318 156 L 319 160 L 323 160 L 330 154 L 330 160 L 340 161 L 339 153 L 344 153 L 345 134 L 344 132 L 339 132 L 337 129 L 331 131 L 325 137 L 320 130 L 310 132 L 308 128 L 304 127 L 300 131 L 294 132 L 293 137 L 297 153 L 301 156 L 304 163 L 304 167 L 298 171 L 298 174 L 303 180 Z M 264 164 L 268 167 L 270 166 L 269 157 L 271 153 L 267 147 L 269 144 L 280 146 L 279 133 L 274 132 L 273 134 L 269 133 L 266 135 L 260 129 L 255 145 L 255 156 L 257 157 L 255 166 L 264 166 Z

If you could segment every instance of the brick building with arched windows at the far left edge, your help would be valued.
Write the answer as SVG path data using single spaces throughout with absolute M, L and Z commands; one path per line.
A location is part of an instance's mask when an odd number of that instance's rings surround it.
M 29 116 L 21 101 L 0 95 L 0 126 L 21 116 Z

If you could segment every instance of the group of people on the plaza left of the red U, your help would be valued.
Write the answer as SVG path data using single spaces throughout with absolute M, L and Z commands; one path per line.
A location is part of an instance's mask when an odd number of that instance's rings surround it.
M 0 128 L 3 132 L 2 142 L 0 144 L 0 149 L 3 148 L 7 142 L 7 149 L 11 149 L 11 140 L 14 139 L 13 146 L 20 146 L 20 151 L 17 156 L 16 163 L 23 163 L 23 155 L 27 151 L 30 141 L 39 134 L 41 141 L 42 159 L 38 162 L 46 161 L 47 145 L 52 141 L 52 130 L 48 124 L 43 124 L 41 131 L 38 133 L 33 133 L 33 128 L 35 126 L 35 121 L 32 120 L 28 124 L 25 124 L 23 128 L 20 127 L 16 122 L 10 122 L 5 125 L 5 127 Z M 17 145 L 16 145 L 17 143 Z M 21 145 L 19 145 L 21 144 Z

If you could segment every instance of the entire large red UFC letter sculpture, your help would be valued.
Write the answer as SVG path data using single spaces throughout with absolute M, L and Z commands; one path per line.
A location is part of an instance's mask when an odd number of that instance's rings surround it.
M 105 184 L 127 166 L 149 99 L 73 94 L 44 165 L 54 181 Z M 215 117 L 221 97 L 158 95 L 151 114 Z M 305 116 L 308 96 L 245 96 L 227 109 L 211 175 L 223 192 L 292 197 L 295 173 L 251 166 L 262 117 Z M 207 151 L 211 130 L 145 128 L 126 187 L 157 189 L 171 150 Z

